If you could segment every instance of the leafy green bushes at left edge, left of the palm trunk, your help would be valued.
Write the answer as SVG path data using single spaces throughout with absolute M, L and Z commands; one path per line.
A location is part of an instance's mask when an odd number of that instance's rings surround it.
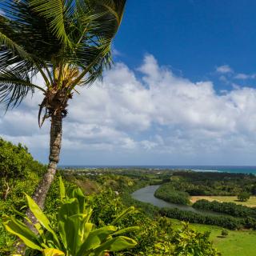
M 35 161 L 26 146 L 0 138 L 0 255 L 10 255 L 14 238 L 2 226 L 2 216 L 25 205 L 24 192 L 33 194 L 46 166 Z M 25 210 L 23 209 L 22 212 Z

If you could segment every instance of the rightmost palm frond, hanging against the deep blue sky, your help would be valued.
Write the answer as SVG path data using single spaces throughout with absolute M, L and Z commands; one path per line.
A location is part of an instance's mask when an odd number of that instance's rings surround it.
M 73 88 L 82 79 L 84 85 L 89 85 L 110 67 L 111 42 L 122 21 L 125 4 L 126 0 L 77 0 L 81 35 L 70 59 L 82 66 L 83 71 Z

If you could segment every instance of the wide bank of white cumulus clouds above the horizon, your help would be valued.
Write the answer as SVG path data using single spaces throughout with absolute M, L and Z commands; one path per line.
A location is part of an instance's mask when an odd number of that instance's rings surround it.
M 231 72 L 228 67 L 219 72 Z M 220 163 L 224 156 L 242 161 L 256 150 L 256 90 L 218 94 L 212 82 L 177 76 L 150 54 L 137 70 L 118 63 L 103 82 L 78 91 L 63 124 L 64 163 Z M 41 100 L 37 94 L 3 115 L 0 136 L 42 158 L 49 121 L 38 128 Z

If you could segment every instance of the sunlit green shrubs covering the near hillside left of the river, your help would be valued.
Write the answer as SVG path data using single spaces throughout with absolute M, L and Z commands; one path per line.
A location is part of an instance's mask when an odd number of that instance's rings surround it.
M 24 154 L 26 152 L 25 158 L 30 159 L 26 159 L 29 167 L 24 173 L 22 172 L 22 175 L 15 179 L 15 186 L 10 190 L 6 200 L 3 198 L 0 199 L 1 219 L 6 214 L 21 219 L 16 210 L 21 211 L 21 214 L 26 211 L 26 208 L 23 207 L 26 205 L 24 192 L 29 195 L 33 193 L 46 168 L 35 162 L 25 147 L 21 145 L 14 146 L 11 143 L 7 144 L 10 147 L 9 150 L 13 154 L 13 157 L 14 155 L 17 156 L 15 150 L 19 152 L 18 149 L 22 149 L 22 152 L 25 150 L 23 152 Z M 8 158 L 2 161 L 8 162 Z M 34 168 L 34 166 L 36 167 Z M 9 170 L 6 170 L 6 173 L 9 174 Z M 115 171 L 112 174 L 106 171 L 106 173 L 102 173 L 101 175 L 96 175 L 95 173 L 89 175 L 73 175 L 70 172 L 62 172 L 62 174 L 66 187 L 79 186 L 83 190 L 83 193 L 87 194 L 87 204 L 92 208 L 91 223 L 94 223 L 96 228 L 110 225 L 129 206 L 135 206 L 137 208 L 134 213 L 129 214 L 129 216 L 122 218 L 118 222 L 118 229 L 127 226 L 140 226 L 140 230 L 130 230 L 129 234 L 123 234 L 134 239 L 138 243 L 138 246 L 135 246 L 133 249 L 116 252 L 115 254 L 111 253 L 111 255 L 189 255 L 192 252 L 198 255 L 218 255 L 212 243 L 209 241 L 209 233 L 191 230 L 186 223 L 183 224 L 181 229 L 174 230 L 170 219 L 162 218 L 158 214 L 156 207 L 150 204 L 136 202 L 130 198 L 129 193 L 131 191 L 146 186 L 150 182 L 159 182 L 159 178 L 155 179 L 152 177 L 152 174 L 145 174 L 144 178 L 142 176 L 131 178 L 129 175 L 119 175 Z M 6 179 L 6 175 L 2 179 Z M 51 229 L 54 232 L 58 231 L 58 225 L 54 223 L 57 223 L 58 209 L 62 206 L 59 198 L 58 178 L 55 178 L 46 199 L 45 210 L 46 217 L 49 219 Z M 4 219 L 6 220 L 6 217 Z M 0 254 L 2 256 L 10 255 L 15 250 L 15 238 L 6 232 L 2 226 L 2 221 L 0 223 L 0 231 Z

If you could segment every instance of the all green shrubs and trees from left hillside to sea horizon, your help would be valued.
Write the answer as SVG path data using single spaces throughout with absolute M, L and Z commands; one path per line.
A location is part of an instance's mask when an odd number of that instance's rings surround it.
M 14 206 L 17 210 L 21 210 L 23 213 L 25 212 L 26 209 L 22 208 L 26 204 L 23 192 L 30 195 L 33 193 L 35 186 L 38 184 L 46 168 L 33 160 L 26 147 L 21 145 L 14 146 L 10 142 L 1 142 L 2 147 L 0 149 L 3 152 L 2 168 L 3 166 L 5 167 L 2 171 L 1 182 L 2 184 L 8 182 L 11 186 L 7 197 L 5 197 L 6 186 L 1 187 L 1 215 L 13 214 L 18 217 L 11 206 Z M 3 156 L 6 157 L 3 158 Z M 5 161 L 6 165 L 4 164 Z M 9 169 L 6 166 L 9 166 Z M 176 197 L 173 197 L 174 200 L 180 195 L 187 198 L 189 184 L 190 191 L 191 187 L 193 187 L 195 194 L 195 189 L 203 186 L 206 182 L 206 174 L 192 174 L 190 171 L 181 172 L 170 170 L 162 170 L 159 174 L 156 170 L 146 169 L 136 171 L 128 169 L 62 170 L 61 172 L 66 187 L 79 186 L 83 190 L 83 193 L 87 195 L 86 200 L 93 209 L 91 222 L 97 228 L 110 225 L 114 218 L 117 218 L 118 214 L 121 214 L 128 207 L 136 207 L 137 211 L 123 218 L 118 223 L 118 228 L 140 226 L 140 230 L 125 234 L 138 242 L 138 245 L 129 250 L 116 252 L 113 255 L 178 255 L 180 251 L 183 251 L 184 255 L 187 255 L 190 250 L 207 251 L 205 253 L 206 255 L 217 254 L 212 248 L 208 233 L 191 230 L 185 223 L 177 230 L 173 226 L 173 221 L 170 218 L 191 223 L 222 226 L 230 230 L 238 230 L 241 227 L 255 229 L 256 227 L 255 210 L 245 206 L 238 206 L 234 203 L 199 201 L 194 205 L 195 208 L 200 210 L 210 210 L 220 213 L 220 215 L 213 216 L 171 208 L 158 209 L 158 207 L 148 203 L 138 202 L 130 197 L 130 193 L 143 186 L 162 184 L 159 189 L 162 192 L 165 192 L 162 188 L 166 188 L 173 194 L 178 189 L 182 191 L 182 193 L 175 194 Z M 14 179 L 14 174 L 16 173 L 18 178 Z M 210 173 L 209 178 L 212 182 L 222 184 L 221 186 L 212 188 L 212 191 L 218 191 L 218 193 L 222 194 L 223 188 L 231 186 L 231 184 L 236 186 L 236 190 L 240 191 L 243 189 L 246 191 L 254 187 L 255 178 L 251 177 L 251 175 L 232 175 Z M 220 177 L 224 181 L 218 181 Z M 242 180 L 242 184 L 247 184 L 244 188 L 239 185 L 238 178 Z M 210 189 L 208 191 L 210 192 Z M 58 220 L 56 213 L 61 207 L 61 202 L 58 198 L 60 198 L 58 179 L 55 179 L 46 198 L 45 210 L 46 216 L 49 218 L 54 230 L 58 228 L 54 223 Z M 179 202 L 182 202 L 182 200 Z M 10 251 L 14 250 L 14 237 L 4 230 L 2 222 L 0 222 L 0 231 L 0 254 L 9 255 Z M 222 235 L 221 232 L 219 233 Z M 199 247 L 198 244 L 200 245 Z

